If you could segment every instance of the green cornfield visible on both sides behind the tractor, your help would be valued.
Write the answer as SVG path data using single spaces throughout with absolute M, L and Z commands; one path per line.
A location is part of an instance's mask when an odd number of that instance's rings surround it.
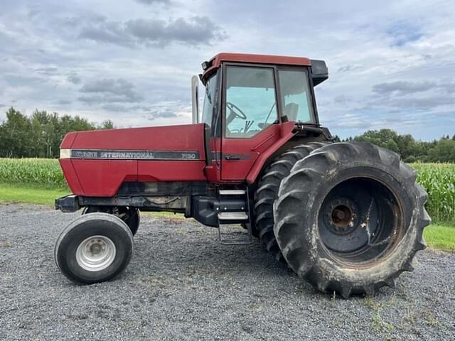
M 455 224 L 455 164 L 412 163 L 417 181 L 427 190 L 427 210 L 434 222 Z M 57 160 L 43 158 L 0 158 L 0 183 L 66 188 Z

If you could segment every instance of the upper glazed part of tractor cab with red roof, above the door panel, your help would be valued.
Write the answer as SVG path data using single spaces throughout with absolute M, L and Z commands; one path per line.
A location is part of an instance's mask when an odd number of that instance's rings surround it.
M 220 53 L 202 67 L 201 121 L 217 124 L 222 114 L 225 137 L 249 139 L 281 121 L 319 124 L 313 87 L 328 78 L 322 60 Z

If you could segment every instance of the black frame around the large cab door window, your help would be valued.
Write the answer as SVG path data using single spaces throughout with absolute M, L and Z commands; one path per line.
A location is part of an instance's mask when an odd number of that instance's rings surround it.
M 281 97 L 279 93 L 279 83 L 278 83 L 278 78 L 277 78 L 277 66 L 276 65 L 269 65 L 269 64 L 252 64 L 252 63 L 223 63 L 222 68 L 222 89 L 223 91 L 221 92 L 221 131 L 222 131 L 222 136 L 223 139 L 235 139 L 235 140 L 250 140 L 254 139 L 255 136 L 261 134 L 263 131 L 267 130 L 268 127 L 265 129 L 262 129 L 261 131 L 258 131 L 257 134 L 242 138 L 242 137 L 237 137 L 237 136 L 226 136 L 226 97 L 227 97 L 227 92 L 228 92 L 228 87 L 227 87 L 227 69 L 230 66 L 234 67 L 255 67 L 257 69 L 268 69 L 272 70 L 272 75 L 273 75 L 273 82 L 274 82 L 274 93 L 275 93 L 275 106 L 277 107 L 277 117 L 274 119 L 274 123 L 270 124 L 272 126 L 273 124 L 279 124 L 282 122 L 282 105 L 281 105 L 281 100 L 279 100 Z M 277 121 L 277 123 L 275 123 Z

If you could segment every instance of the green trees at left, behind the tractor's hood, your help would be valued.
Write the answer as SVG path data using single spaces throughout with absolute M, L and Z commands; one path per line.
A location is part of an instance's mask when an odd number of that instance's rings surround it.
M 58 158 L 60 142 L 68 132 L 112 128 L 110 120 L 95 126 L 79 116 L 36 109 L 28 117 L 11 107 L 0 124 L 0 157 Z

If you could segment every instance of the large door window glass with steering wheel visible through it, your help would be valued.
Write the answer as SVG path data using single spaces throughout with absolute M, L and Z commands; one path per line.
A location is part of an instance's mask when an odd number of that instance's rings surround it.
M 226 67 L 225 136 L 250 139 L 277 123 L 274 70 Z

